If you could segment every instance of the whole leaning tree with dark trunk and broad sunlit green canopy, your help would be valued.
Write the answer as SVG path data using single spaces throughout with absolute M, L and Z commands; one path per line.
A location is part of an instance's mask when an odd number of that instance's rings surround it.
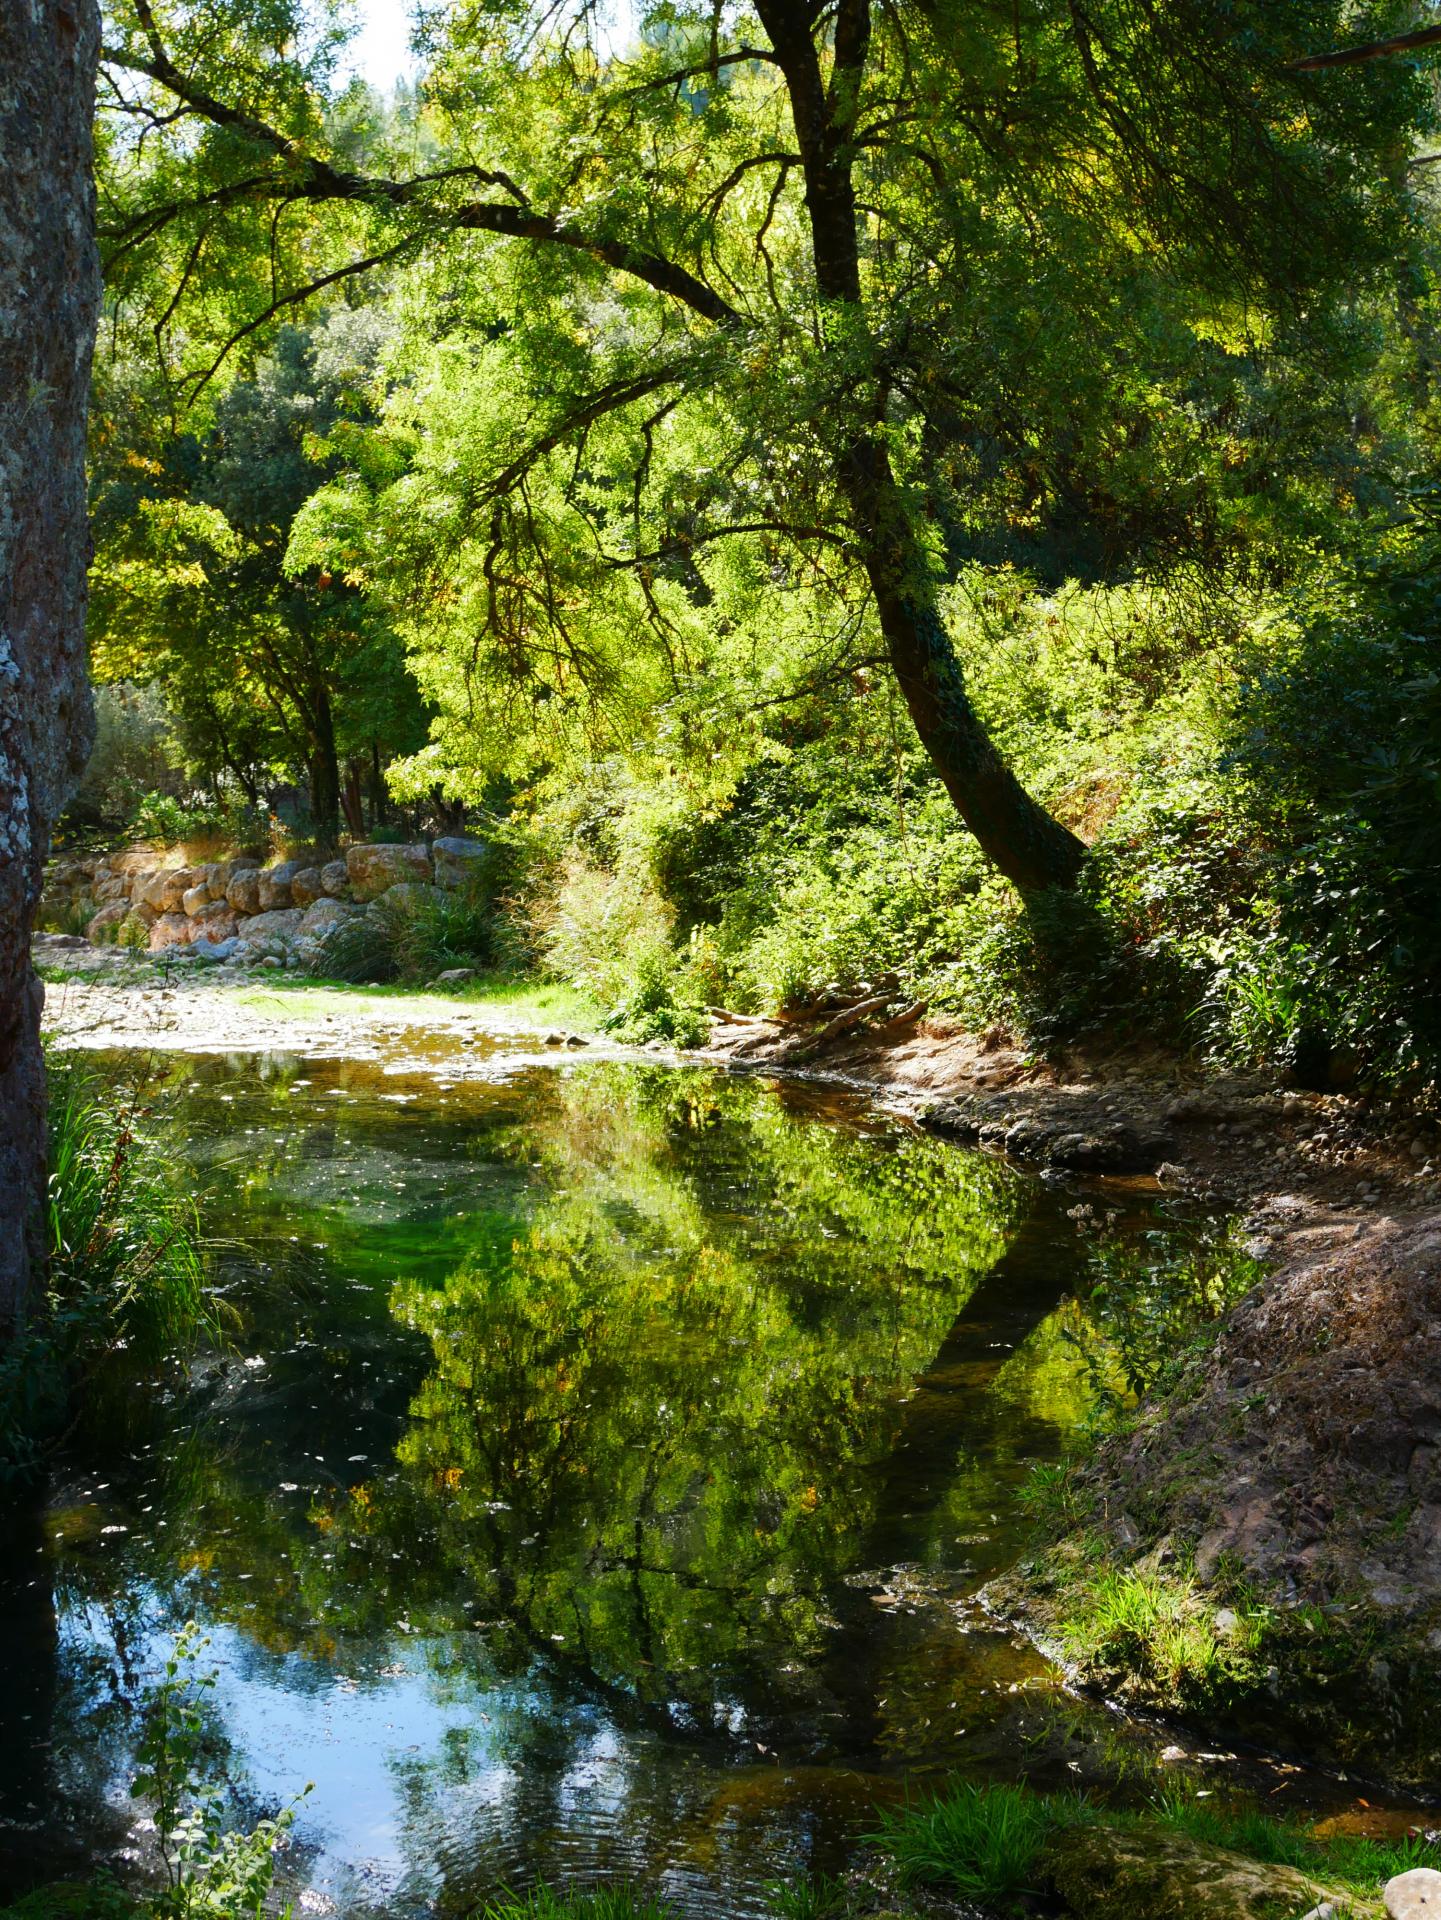
M 457 6 L 384 111 L 309 10 L 134 0 L 111 321 L 194 417 L 309 303 L 401 315 L 403 470 L 357 453 L 290 564 L 403 634 L 418 778 L 637 716 L 718 753 L 883 666 L 984 852 L 1071 883 L 936 589 L 1264 545 L 1408 246 L 1429 94 L 1297 65 L 1347 38 L 1334 0 L 654 6 L 627 46 L 589 6 Z

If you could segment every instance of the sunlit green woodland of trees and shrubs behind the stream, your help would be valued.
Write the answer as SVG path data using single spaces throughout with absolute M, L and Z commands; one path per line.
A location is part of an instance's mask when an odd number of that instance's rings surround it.
M 67 837 L 478 833 L 687 1039 L 1441 1056 L 1437 92 L 1335 0 L 117 0 Z M 393 964 L 378 956 L 374 966 Z

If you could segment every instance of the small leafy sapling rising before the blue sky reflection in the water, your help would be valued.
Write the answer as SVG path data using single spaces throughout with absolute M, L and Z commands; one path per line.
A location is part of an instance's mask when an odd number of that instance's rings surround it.
M 224 1789 L 205 1770 L 205 1695 L 215 1674 L 201 1672 L 196 1661 L 207 1645 L 194 1622 L 182 1628 L 146 1703 L 136 1749 L 140 1772 L 130 1791 L 154 1811 L 165 1868 L 165 1891 L 140 1903 L 154 1920 L 242 1920 L 248 1914 L 259 1920 L 274 1882 L 276 1847 L 311 1791 L 305 1788 L 249 1832 L 230 1824 Z

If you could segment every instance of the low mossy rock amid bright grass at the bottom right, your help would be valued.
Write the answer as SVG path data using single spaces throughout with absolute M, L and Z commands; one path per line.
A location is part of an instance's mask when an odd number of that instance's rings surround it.
M 1376 1905 L 1347 1907 L 1347 1895 L 1293 1866 L 1151 1828 L 1063 1828 L 1046 1841 L 1040 1872 L 1076 1920 L 1276 1920 L 1324 1903 L 1380 1920 Z

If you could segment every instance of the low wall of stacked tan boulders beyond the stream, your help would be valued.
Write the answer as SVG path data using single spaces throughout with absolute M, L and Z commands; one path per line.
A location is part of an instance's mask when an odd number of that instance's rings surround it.
M 332 927 L 386 906 L 413 906 L 459 887 L 485 858 L 484 841 L 347 847 L 328 862 L 261 866 L 232 856 L 177 866 L 144 847 L 58 860 L 46 876 L 50 918 L 94 912 L 86 937 L 146 952 L 180 950 L 232 966 L 309 966 Z

